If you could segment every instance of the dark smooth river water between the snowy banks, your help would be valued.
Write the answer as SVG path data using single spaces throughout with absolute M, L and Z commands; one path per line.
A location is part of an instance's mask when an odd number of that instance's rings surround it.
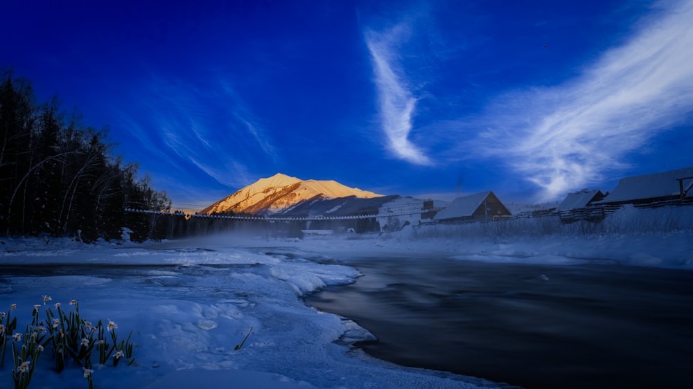
M 693 388 L 693 271 L 444 258 L 344 260 L 306 302 L 377 338 L 369 354 L 525 388 Z

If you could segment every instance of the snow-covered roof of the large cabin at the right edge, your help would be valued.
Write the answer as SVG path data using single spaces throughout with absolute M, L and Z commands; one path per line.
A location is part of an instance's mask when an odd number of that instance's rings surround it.
M 693 177 L 693 168 L 625 177 L 618 181 L 616 188 L 604 200 L 596 201 L 595 203 L 617 203 L 620 201 L 677 196 L 681 192 L 677 179 L 684 177 Z M 683 181 L 684 191 L 689 190 L 692 186 L 693 179 Z M 688 194 L 689 197 L 691 195 L 691 193 Z

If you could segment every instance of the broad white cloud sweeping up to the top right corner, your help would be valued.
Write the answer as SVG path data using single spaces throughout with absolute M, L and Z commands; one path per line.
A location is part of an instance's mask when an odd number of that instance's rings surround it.
M 556 199 L 625 168 L 628 154 L 685 124 L 693 110 L 693 2 L 663 5 L 673 6 L 575 82 L 502 98 L 475 147 L 529 177 L 543 199 Z

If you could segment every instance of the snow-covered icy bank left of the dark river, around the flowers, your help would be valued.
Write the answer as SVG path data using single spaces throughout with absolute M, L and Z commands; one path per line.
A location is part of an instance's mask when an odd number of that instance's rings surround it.
M 401 368 L 352 350 L 369 338 L 351 320 L 308 307 L 304 293 L 353 282 L 348 266 L 265 255 L 271 248 L 211 242 L 85 245 L 67 239 L 2 239 L 0 307 L 24 332 L 34 305 L 77 300 L 83 318 L 132 329 L 135 363 L 94 368 L 95 388 L 475 388 L 482 381 Z M 245 242 L 253 243 L 253 242 Z M 258 243 L 258 242 L 254 242 Z M 296 242 L 261 242 L 267 246 Z M 251 246 L 261 246 L 250 244 Z M 42 296 L 52 298 L 42 305 Z M 54 307 L 51 307 L 55 311 Z M 42 314 L 42 317 L 43 314 Z M 252 328 L 246 343 L 234 350 Z M 10 341 L 11 343 L 12 341 Z M 12 352 L 0 370 L 12 385 Z M 35 361 L 30 388 L 87 388 L 72 363 Z

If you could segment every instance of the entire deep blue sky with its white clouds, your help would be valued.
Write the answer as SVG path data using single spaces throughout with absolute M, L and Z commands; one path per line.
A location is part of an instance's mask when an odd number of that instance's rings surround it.
M 179 208 L 277 172 L 538 202 L 693 165 L 693 1 L 0 2 L 0 66 Z

